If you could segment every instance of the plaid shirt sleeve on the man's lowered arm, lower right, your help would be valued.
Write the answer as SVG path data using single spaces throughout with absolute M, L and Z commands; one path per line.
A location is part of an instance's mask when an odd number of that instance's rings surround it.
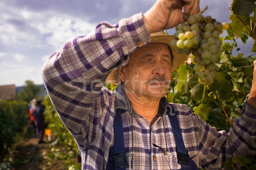
M 198 116 L 197 116 L 198 117 Z M 230 132 L 217 132 L 200 118 L 199 125 L 199 160 L 202 168 L 224 169 L 229 157 L 256 155 L 256 109 L 244 104 L 241 116 L 233 120 Z

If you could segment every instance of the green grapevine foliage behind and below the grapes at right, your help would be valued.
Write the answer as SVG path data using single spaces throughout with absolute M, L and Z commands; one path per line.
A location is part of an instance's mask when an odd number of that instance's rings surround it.
M 237 38 L 246 44 L 251 37 L 254 40 L 251 51 L 256 52 L 255 7 L 254 0 L 233 0 L 233 14 L 230 15 L 232 22 L 227 29 L 227 36 L 221 38 L 223 52 L 220 62 L 216 63 L 216 77 L 212 85 L 198 83 L 193 63 L 184 64 L 173 72 L 171 86 L 174 88 L 166 95 L 169 102 L 189 105 L 195 114 L 217 130 L 229 131 L 233 119 L 240 116 L 244 99 L 250 92 L 255 57 L 244 57 L 242 53 L 233 56 L 233 51 L 240 50 Z M 250 16 L 252 12 L 254 14 Z M 229 170 L 237 164 L 240 164 L 240 169 L 254 170 L 255 163 L 255 157 L 238 156 L 228 159 L 225 165 Z

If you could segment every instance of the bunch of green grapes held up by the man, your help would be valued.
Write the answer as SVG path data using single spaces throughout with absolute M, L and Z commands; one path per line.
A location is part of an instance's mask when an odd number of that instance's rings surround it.
M 195 74 L 202 84 L 212 84 L 215 77 L 215 62 L 220 59 L 221 40 L 219 35 L 228 28 L 227 23 L 217 22 L 211 16 L 204 17 L 201 13 L 186 16 L 186 23 L 176 26 L 173 48 L 182 54 L 193 54 Z

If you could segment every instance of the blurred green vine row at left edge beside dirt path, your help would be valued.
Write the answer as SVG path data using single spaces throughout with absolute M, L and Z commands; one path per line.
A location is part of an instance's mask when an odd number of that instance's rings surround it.
M 0 163 L 28 121 L 27 107 L 26 102 L 0 100 Z

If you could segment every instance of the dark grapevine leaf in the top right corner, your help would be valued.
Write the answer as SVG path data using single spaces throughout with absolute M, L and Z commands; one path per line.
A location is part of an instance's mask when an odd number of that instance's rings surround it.
M 255 0 L 233 0 L 231 11 L 237 15 L 250 15 L 256 7 L 254 2 Z

